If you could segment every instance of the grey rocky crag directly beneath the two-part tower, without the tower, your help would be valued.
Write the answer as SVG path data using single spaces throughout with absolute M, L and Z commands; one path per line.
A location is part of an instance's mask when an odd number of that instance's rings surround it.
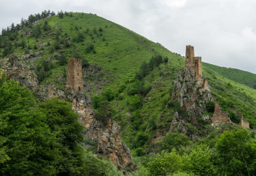
M 177 99 L 192 118 L 202 116 L 205 104 L 212 100 L 207 79 L 196 79 L 196 73 L 186 67 L 179 72 L 174 81 L 172 98 Z

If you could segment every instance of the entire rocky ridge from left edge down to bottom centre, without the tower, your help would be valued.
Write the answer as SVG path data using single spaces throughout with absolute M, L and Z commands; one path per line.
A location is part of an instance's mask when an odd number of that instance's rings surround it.
M 95 112 L 88 97 L 81 92 L 74 94 L 71 88 L 60 90 L 48 82 L 46 85 L 38 86 L 37 75 L 15 55 L 1 60 L 0 66 L 8 78 L 15 79 L 21 86 L 33 90 L 38 101 L 56 97 L 71 102 L 73 110 L 80 115 L 78 120 L 85 127 L 84 137 L 98 144 L 95 153 L 111 159 L 120 170 L 135 170 L 136 165 L 131 152 L 120 139 L 120 126 L 111 118 L 107 125 L 102 126 L 102 123 L 95 119 Z

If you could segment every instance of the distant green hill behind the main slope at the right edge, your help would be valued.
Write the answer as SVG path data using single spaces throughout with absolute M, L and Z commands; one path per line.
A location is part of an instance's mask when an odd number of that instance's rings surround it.
M 256 75 L 251 72 L 246 72 L 236 68 L 214 66 L 210 63 L 203 63 L 203 65 L 207 68 L 210 68 L 211 70 L 214 70 L 215 72 L 218 72 L 223 77 L 256 89 Z

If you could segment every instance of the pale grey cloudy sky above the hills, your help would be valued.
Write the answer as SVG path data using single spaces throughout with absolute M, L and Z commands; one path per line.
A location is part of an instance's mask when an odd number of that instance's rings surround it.
M 118 23 L 172 52 L 256 73 L 255 0 L 0 0 L 0 29 L 51 10 L 86 12 Z

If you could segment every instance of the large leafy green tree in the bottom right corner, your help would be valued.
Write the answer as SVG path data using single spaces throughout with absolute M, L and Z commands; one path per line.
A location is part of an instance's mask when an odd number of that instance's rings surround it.
M 255 175 L 256 142 L 248 130 L 225 131 L 215 146 L 222 175 Z

